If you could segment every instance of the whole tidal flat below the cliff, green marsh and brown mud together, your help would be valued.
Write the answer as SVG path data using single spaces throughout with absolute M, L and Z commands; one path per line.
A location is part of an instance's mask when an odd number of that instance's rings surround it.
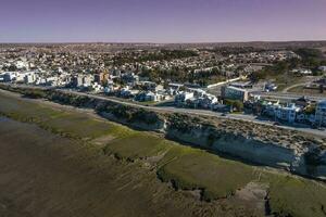
M 325 183 L 0 92 L 0 216 L 326 216 Z

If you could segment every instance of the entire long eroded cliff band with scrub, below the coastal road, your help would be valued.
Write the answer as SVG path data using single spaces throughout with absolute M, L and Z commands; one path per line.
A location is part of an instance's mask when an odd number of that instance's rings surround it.
M 22 88 L 10 90 L 26 92 Z M 315 138 L 244 120 L 159 113 L 55 90 L 37 90 L 35 94 L 28 89 L 27 93 L 63 104 L 90 107 L 110 120 L 156 131 L 193 146 L 326 180 L 326 137 Z

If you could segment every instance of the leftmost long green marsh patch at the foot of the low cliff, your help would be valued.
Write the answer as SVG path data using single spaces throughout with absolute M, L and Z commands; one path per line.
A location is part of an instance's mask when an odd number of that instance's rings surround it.
M 0 113 L 13 119 L 37 123 L 42 128 L 72 138 L 90 140 L 103 135 L 116 135 L 118 132 L 117 126 L 114 124 L 103 123 L 83 114 L 63 110 L 49 110 L 49 106 L 46 105 L 13 100 L 4 95 L 1 95 Z

